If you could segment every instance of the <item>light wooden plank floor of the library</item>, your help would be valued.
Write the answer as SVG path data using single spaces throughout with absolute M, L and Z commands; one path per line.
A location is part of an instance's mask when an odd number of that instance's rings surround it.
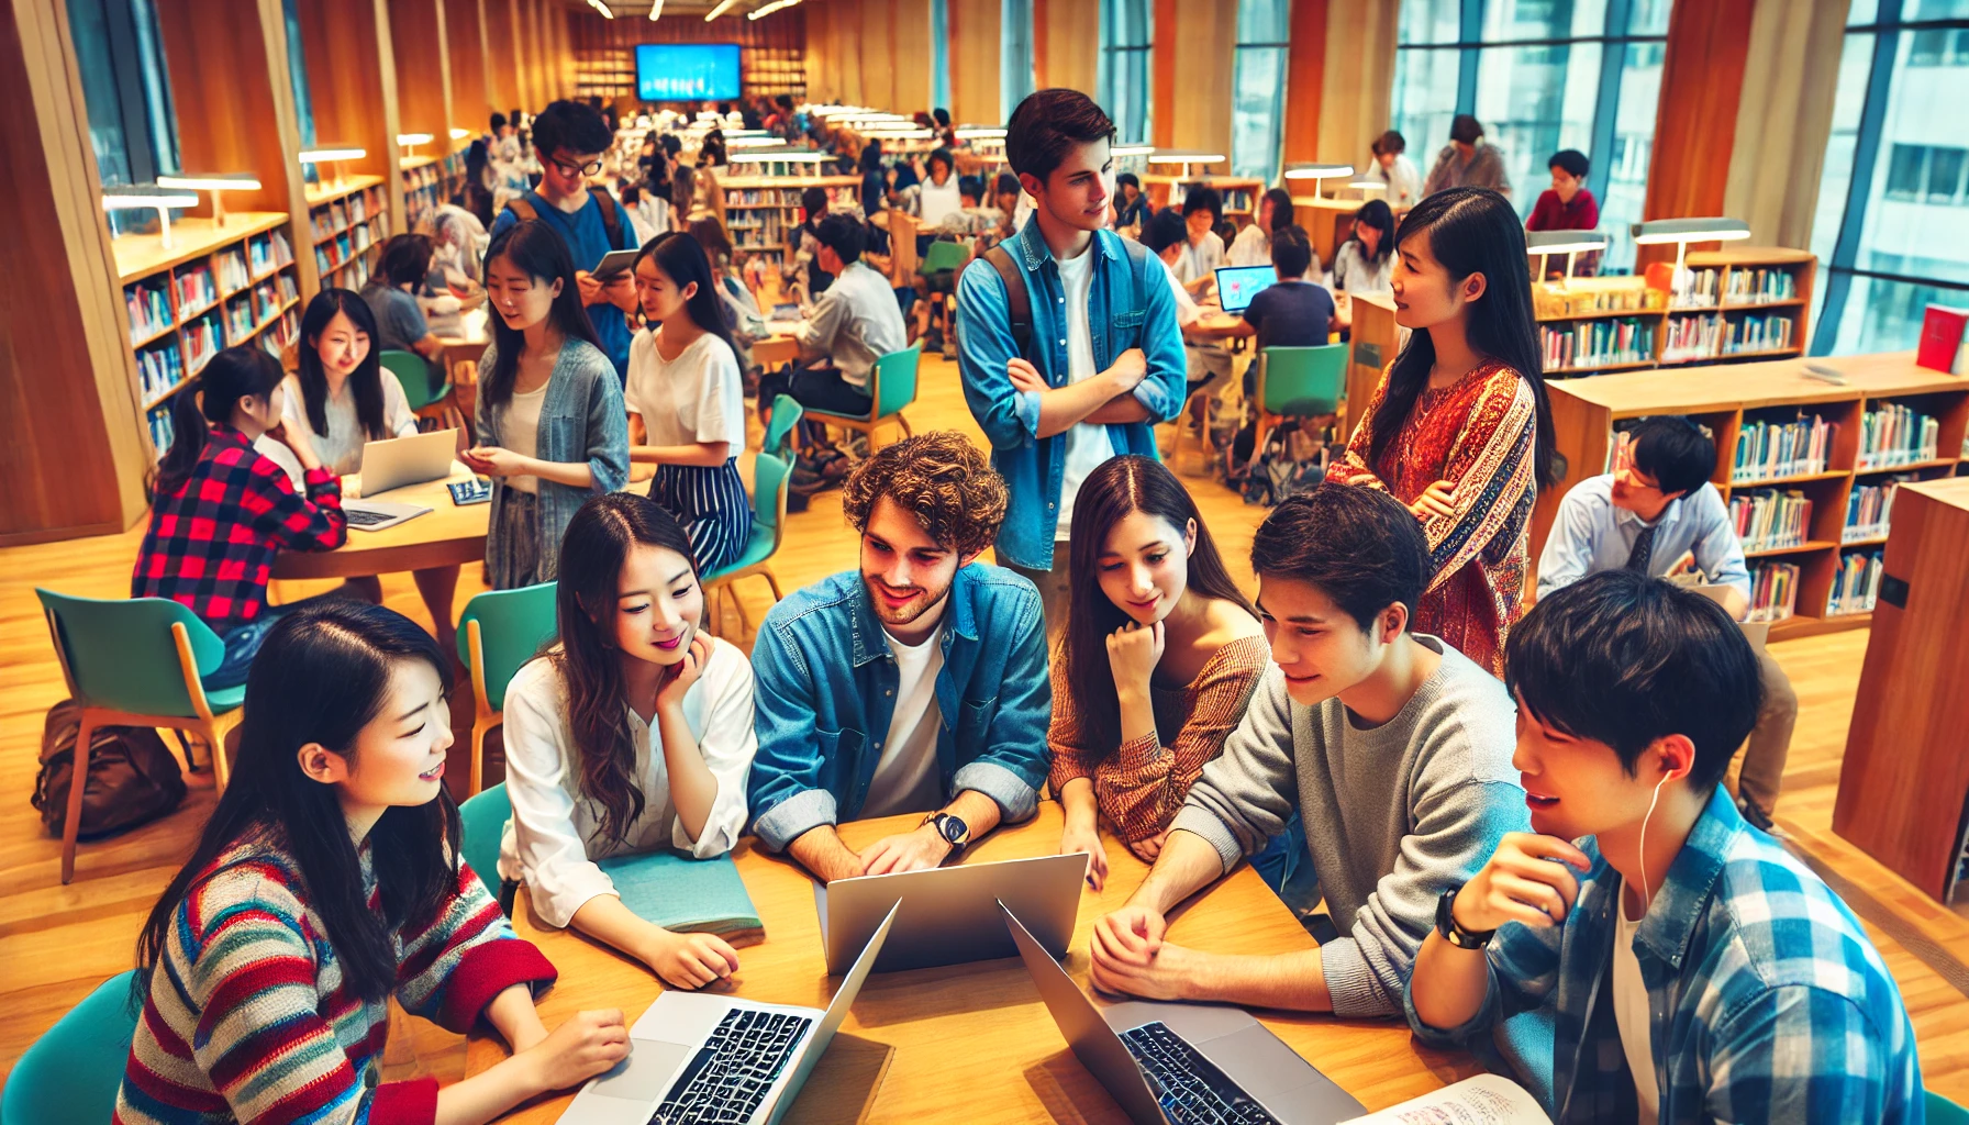
M 955 366 L 935 357 L 923 363 L 921 396 L 910 420 L 918 431 L 955 428 L 983 445 L 957 388 Z M 1185 479 L 1197 471 L 1189 449 L 1177 463 Z M 1195 477 L 1189 485 L 1225 556 L 1248 558 L 1250 534 L 1264 510 L 1244 506 L 1209 479 Z M 161 822 L 104 843 L 85 843 L 75 883 L 63 887 L 59 845 L 41 833 L 28 804 L 41 719 L 63 695 L 33 587 L 122 597 L 140 538 L 142 528 L 0 550 L 0 794 L 6 794 L 0 800 L 0 1074 L 89 989 L 130 967 L 144 914 L 211 810 L 211 792 L 193 790 L 185 808 Z M 855 536 L 841 520 L 839 493 L 827 493 L 815 498 L 811 510 L 792 516 L 786 546 L 774 560 L 784 589 L 851 565 Z M 484 589 L 476 567 L 465 569 L 461 587 L 459 607 Z M 754 579 L 744 587 L 756 625 L 768 607 L 766 583 Z M 299 597 L 313 589 L 293 585 L 280 595 Z M 394 609 L 429 625 L 410 575 L 386 575 L 384 595 Z M 750 648 L 750 636 L 734 636 L 734 617 L 727 629 L 727 636 Z M 1865 648 L 1865 630 L 1772 646 L 1800 695 L 1778 826 L 1847 894 L 1886 956 L 1914 1017 L 1928 1086 L 1969 1101 L 1969 920 L 1831 833 L 1839 757 Z M 469 717 L 469 703 L 465 713 Z M 457 737 L 467 741 L 465 723 L 459 723 Z M 425 1025 L 406 1030 L 412 1034 L 392 1042 L 398 1072 L 421 1068 L 447 1080 L 463 1072 L 459 1040 Z

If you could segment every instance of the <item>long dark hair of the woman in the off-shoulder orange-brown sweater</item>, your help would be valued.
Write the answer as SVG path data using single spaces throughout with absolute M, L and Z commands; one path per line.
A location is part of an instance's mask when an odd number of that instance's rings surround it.
M 1250 599 L 1231 579 L 1189 489 L 1183 489 L 1160 461 L 1128 453 L 1111 457 L 1089 473 L 1079 498 L 1073 500 L 1073 534 L 1067 548 L 1073 601 L 1067 607 L 1063 644 L 1067 690 L 1073 692 L 1073 709 L 1081 719 L 1081 743 L 1095 747 L 1103 757 L 1120 749 L 1120 697 L 1114 694 L 1107 638 L 1130 617 L 1101 593 L 1101 552 L 1107 550 L 1109 532 L 1128 512 L 1168 520 L 1177 532 L 1195 520 L 1197 546 L 1189 552 L 1189 589 L 1231 601 L 1252 619 L 1258 617 Z

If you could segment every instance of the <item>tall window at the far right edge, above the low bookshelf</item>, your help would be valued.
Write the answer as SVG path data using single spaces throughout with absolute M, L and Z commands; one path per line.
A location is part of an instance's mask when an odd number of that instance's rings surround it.
M 1837 83 L 1811 353 L 1910 349 L 1969 305 L 1969 0 L 1853 0 Z

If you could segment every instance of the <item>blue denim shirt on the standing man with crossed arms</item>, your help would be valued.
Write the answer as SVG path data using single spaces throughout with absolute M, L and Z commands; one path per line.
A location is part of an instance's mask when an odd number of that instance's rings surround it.
M 1040 368 L 1049 386 L 1067 386 L 1067 298 L 1040 223 L 1026 221 L 1004 248 L 1026 268 L 1026 292 L 1032 296 L 1032 349 L 1038 355 L 1024 359 Z M 1138 242 L 1097 231 L 1087 252 L 1101 256 L 1087 298 L 1095 370 L 1107 370 L 1116 355 L 1132 347 L 1148 357 L 1148 376 L 1134 388 L 1148 422 L 1109 426 L 1109 441 L 1114 453 L 1158 457 L 1154 426 L 1183 410 L 1187 359 L 1175 325 L 1175 296 L 1162 278 L 1162 266 Z M 957 280 L 957 366 L 971 416 L 990 441 L 990 463 L 1012 491 L 1012 506 L 998 530 L 998 560 L 1026 569 L 1053 569 L 1067 435 L 1040 437 L 1040 392 L 1014 390 L 1006 374 L 1016 355 L 1012 311 L 998 270 L 988 262 L 965 270 Z

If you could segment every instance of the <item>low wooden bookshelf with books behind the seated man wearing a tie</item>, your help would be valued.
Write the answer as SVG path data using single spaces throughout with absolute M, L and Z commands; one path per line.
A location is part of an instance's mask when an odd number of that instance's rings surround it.
M 1556 489 L 1538 496 L 1534 567 L 1565 491 L 1611 471 L 1622 424 L 1680 414 L 1715 435 L 1711 483 L 1725 504 L 1810 502 L 1792 534 L 1760 536 L 1756 550 L 1745 552 L 1752 581 L 1766 567 L 1798 567 L 1792 615 L 1772 623 L 1772 640 L 1867 625 L 1878 589 L 1874 556 L 1888 534 L 1886 485 L 1951 477 L 1965 463 L 1969 380 L 1916 366 L 1912 351 L 1825 363 L 1845 374 L 1845 386 L 1808 376 L 1798 359 L 1552 382 L 1565 471 Z M 1823 424 L 1815 443 L 1813 420 Z M 1800 422 L 1808 435 L 1800 447 L 1766 445 L 1768 457 L 1739 469 L 1739 443 L 1748 451 L 1760 433 Z M 1869 445 L 1874 455 L 1863 457 Z

